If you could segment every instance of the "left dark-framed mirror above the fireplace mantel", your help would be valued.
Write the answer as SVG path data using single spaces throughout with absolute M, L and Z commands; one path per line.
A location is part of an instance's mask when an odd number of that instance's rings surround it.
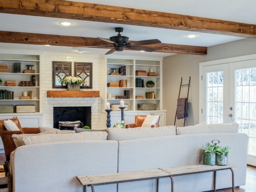
M 71 62 L 53 61 L 53 88 L 67 88 L 67 85 L 60 83 L 60 79 L 71 76 Z

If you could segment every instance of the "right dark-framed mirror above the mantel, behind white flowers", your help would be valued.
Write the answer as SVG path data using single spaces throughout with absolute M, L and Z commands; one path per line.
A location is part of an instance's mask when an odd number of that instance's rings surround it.
M 74 62 L 74 76 L 86 81 L 81 84 L 81 89 L 92 89 L 92 63 Z

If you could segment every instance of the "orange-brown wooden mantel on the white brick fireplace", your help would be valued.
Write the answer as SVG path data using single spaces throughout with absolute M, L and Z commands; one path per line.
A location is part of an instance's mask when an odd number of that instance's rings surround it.
M 99 91 L 47 91 L 47 97 L 99 97 Z

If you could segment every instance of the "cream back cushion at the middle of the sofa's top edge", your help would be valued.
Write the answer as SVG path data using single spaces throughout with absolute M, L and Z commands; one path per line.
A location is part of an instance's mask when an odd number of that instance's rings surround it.
M 158 137 L 158 136 L 167 136 L 175 135 L 176 127 L 175 126 L 164 126 L 164 127 L 136 127 L 128 129 L 120 128 L 107 128 L 107 140 L 130 140 L 130 139 L 139 139 L 139 138 L 148 138 L 148 137 Z

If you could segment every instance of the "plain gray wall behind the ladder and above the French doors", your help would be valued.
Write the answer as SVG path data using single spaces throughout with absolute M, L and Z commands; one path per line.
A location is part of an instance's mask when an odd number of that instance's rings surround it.
M 250 54 L 256 54 L 256 39 L 245 38 L 208 47 L 207 55 L 204 56 L 177 54 L 163 58 L 163 109 L 167 110 L 166 124 L 174 124 L 181 77 L 183 84 L 188 84 L 191 76 L 189 117 L 186 118 L 185 126 L 195 125 L 199 121 L 199 63 Z M 188 87 L 183 87 L 180 97 L 187 97 L 187 90 Z M 181 119 L 175 125 L 183 126 L 183 123 L 184 119 Z

